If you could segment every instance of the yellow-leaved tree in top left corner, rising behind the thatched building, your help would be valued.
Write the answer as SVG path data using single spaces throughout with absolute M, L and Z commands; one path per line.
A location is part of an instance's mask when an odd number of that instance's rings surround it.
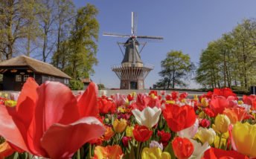
M 28 35 L 28 24 L 33 19 L 33 0 L 0 1 L 0 56 L 13 57 L 14 45 L 18 39 Z

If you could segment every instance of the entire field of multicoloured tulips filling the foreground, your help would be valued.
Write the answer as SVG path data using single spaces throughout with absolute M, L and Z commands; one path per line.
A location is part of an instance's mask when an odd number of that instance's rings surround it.
M 28 78 L 1 94 L 0 158 L 256 158 L 256 96 L 215 88 L 98 97 Z

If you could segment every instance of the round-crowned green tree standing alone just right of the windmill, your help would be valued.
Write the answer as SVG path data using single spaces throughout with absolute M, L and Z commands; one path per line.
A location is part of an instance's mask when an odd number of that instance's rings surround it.
M 167 83 L 166 87 L 175 88 L 176 85 L 186 86 L 187 83 L 182 80 L 187 77 L 194 69 L 191 57 L 183 54 L 182 51 L 170 51 L 166 58 L 161 61 L 161 71 L 159 75 L 163 77 L 160 83 Z M 165 86 L 165 84 L 164 84 Z

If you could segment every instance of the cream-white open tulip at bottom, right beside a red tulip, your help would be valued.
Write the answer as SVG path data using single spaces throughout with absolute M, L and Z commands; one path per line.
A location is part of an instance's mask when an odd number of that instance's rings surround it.
M 191 143 L 193 143 L 193 153 L 190 159 L 200 159 L 204 155 L 204 152 L 207 149 L 210 149 L 208 142 L 206 141 L 203 145 L 202 143 L 198 143 L 196 140 L 191 139 Z

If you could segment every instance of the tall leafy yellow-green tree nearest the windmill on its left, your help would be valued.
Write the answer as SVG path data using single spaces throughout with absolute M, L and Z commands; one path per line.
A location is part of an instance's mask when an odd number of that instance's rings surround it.
M 74 79 L 88 77 L 89 73 L 94 73 L 92 66 L 97 65 L 97 13 L 97 8 L 91 4 L 77 10 L 71 36 L 68 38 L 68 66 L 65 68 L 66 73 Z

